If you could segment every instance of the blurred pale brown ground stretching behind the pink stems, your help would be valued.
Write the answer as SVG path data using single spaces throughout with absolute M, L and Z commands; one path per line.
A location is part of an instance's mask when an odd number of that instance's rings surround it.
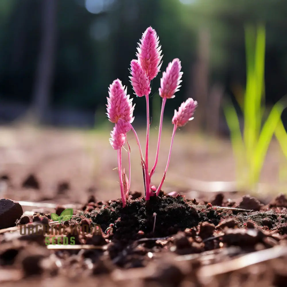
M 167 125 L 167 124 L 166 124 Z M 0 175 L 10 178 L 8 188 L 0 188 L 0 195 L 15 200 L 39 201 L 57 199 L 59 202 L 84 203 L 88 190 L 98 199 L 108 200 L 119 196 L 117 152 L 108 143 L 111 127 L 101 131 L 34 129 L 31 127 L 0 129 Z M 151 128 L 150 165 L 154 161 L 158 130 Z M 164 171 L 170 146 L 171 130 L 163 130 L 158 166 L 152 179 L 158 184 Z M 145 131 L 138 132 L 144 142 Z M 133 134 L 128 133 L 131 145 L 132 191 L 143 191 L 139 151 Z M 144 146 L 144 144 L 142 144 Z M 144 148 L 144 147 L 143 147 Z M 127 154 L 123 153 L 123 166 L 127 168 Z M 228 139 L 211 139 L 187 130 L 177 131 L 170 167 L 163 189 L 170 191 L 201 191 L 191 179 L 205 181 L 234 181 L 235 164 Z M 263 167 L 261 182 L 269 183 L 271 192 L 278 190 L 279 169 L 282 183 L 286 159 L 273 143 Z M 282 172 L 283 171 L 283 172 Z M 23 181 L 34 174 L 40 189 L 26 189 Z M 59 183 L 68 183 L 67 192 L 59 194 Z M 273 188 L 274 187 L 274 188 Z M 61 188 L 60 188 L 61 189 Z M 200 195 L 200 194 L 199 194 Z M 193 196 L 198 196 L 194 194 Z

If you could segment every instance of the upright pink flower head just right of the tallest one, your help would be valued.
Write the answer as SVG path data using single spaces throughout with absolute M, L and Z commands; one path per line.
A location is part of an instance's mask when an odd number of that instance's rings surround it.
M 166 71 L 162 73 L 159 88 L 160 96 L 162 98 L 174 98 L 175 92 L 179 91 L 179 88 L 181 87 L 179 84 L 182 82 L 181 76 L 183 74 L 180 70 L 181 62 L 179 59 L 173 59 L 173 61 L 168 64 Z

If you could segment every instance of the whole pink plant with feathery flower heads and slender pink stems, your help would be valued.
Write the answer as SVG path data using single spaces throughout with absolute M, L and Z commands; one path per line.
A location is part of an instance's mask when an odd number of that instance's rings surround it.
M 174 94 L 179 91 L 181 87 L 179 84 L 182 82 L 181 77 L 183 72 L 181 72 L 181 61 L 179 59 L 174 59 L 170 62 L 163 72 L 162 78 L 160 79 L 159 95 L 162 98 L 162 107 L 160 113 L 160 125 L 158 131 L 158 143 L 156 149 L 156 157 L 152 169 L 149 171 L 149 160 L 148 160 L 148 150 L 149 150 L 149 137 L 150 137 L 150 108 L 149 108 L 149 94 L 151 91 L 150 83 L 152 79 L 156 77 L 160 71 L 160 66 L 162 64 L 161 59 L 161 46 L 159 44 L 159 38 L 156 31 L 149 27 L 143 33 L 141 39 L 139 40 L 137 47 L 137 59 L 131 61 L 131 85 L 137 97 L 146 98 L 146 150 L 145 157 L 141 149 L 139 138 L 135 129 L 132 126 L 134 120 L 133 110 L 135 105 L 132 104 L 132 99 L 127 95 L 127 88 L 122 85 L 119 79 L 116 79 L 109 87 L 109 97 L 107 97 L 107 116 L 109 121 L 115 123 L 113 131 L 111 131 L 110 144 L 118 152 L 118 170 L 119 170 L 119 183 L 121 188 L 121 199 L 123 201 L 123 207 L 125 207 L 127 199 L 129 197 L 129 189 L 131 182 L 131 159 L 130 159 L 130 147 L 127 141 L 127 132 L 132 130 L 135 134 L 135 139 L 137 145 L 139 146 L 139 153 L 141 157 L 141 165 L 143 169 L 144 177 L 144 187 L 145 187 L 145 199 L 148 201 L 150 196 L 158 196 L 164 179 L 166 177 L 166 172 L 170 162 L 170 155 L 172 150 L 172 143 L 174 140 L 174 135 L 178 127 L 183 127 L 188 121 L 193 119 L 193 113 L 197 106 L 197 101 L 192 98 L 188 98 L 185 102 L 181 104 L 178 110 L 174 110 L 174 116 L 172 118 L 172 124 L 174 125 L 170 150 L 168 154 L 168 160 L 166 168 L 164 170 L 162 180 L 156 189 L 151 189 L 151 178 L 156 170 L 158 163 L 158 155 L 160 150 L 160 138 L 162 132 L 162 122 L 164 115 L 164 106 L 167 99 L 174 98 Z M 129 160 L 129 178 L 125 174 L 125 169 L 122 168 L 122 148 L 127 144 L 128 146 L 128 160 Z

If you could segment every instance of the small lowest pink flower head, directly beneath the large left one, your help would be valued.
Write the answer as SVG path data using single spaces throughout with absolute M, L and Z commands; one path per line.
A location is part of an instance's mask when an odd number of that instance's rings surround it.
M 119 121 L 115 124 L 113 131 L 111 131 L 109 139 L 110 144 L 112 145 L 114 150 L 118 150 L 125 145 L 127 139 L 127 132 L 131 129 L 131 124 L 126 122 L 123 119 L 119 119 Z

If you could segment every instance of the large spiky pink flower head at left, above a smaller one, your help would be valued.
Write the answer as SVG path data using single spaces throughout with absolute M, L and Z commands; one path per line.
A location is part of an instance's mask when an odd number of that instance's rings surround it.
M 122 85 L 119 79 L 116 79 L 109 87 L 109 98 L 107 97 L 107 115 L 109 121 L 117 123 L 119 119 L 123 119 L 129 123 L 134 120 L 132 100 L 127 95 L 127 89 Z

